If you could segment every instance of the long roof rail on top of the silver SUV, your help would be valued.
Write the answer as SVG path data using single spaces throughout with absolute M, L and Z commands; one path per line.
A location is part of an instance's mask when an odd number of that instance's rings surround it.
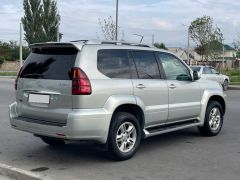
M 130 43 L 125 41 L 102 41 L 102 40 L 75 40 L 70 42 L 82 42 L 85 44 L 113 44 L 113 45 L 128 45 L 128 46 L 139 46 L 139 47 L 150 47 L 146 44 Z

